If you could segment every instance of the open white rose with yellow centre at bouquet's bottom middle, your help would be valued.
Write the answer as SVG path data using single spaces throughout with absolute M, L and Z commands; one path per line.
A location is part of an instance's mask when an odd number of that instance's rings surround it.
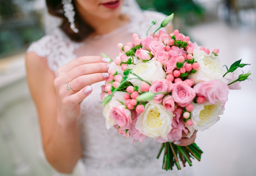
M 173 117 L 173 112 L 166 111 L 162 105 L 150 101 L 146 104 L 145 111 L 138 116 L 135 128 L 151 138 L 162 137 L 167 140 L 167 134 L 172 129 Z

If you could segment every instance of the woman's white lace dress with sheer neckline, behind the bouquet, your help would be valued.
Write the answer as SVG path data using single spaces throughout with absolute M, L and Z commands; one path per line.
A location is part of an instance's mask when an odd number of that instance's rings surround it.
M 49 68 L 56 73 L 58 67 L 79 56 L 105 53 L 115 58 L 119 54 L 117 43 L 132 42 L 132 33 L 145 36 L 152 20 L 157 20 L 157 25 L 151 30 L 153 32 L 164 18 L 161 13 L 145 11 L 131 17 L 127 25 L 81 43 L 72 42 L 58 29 L 31 44 L 28 52 L 47 58 Z M 81 103 L 79 130 L 86 176 L 192 176 L 193 167 L 189 166 L 180 171 L 176 168 L 168 172 L 163 170 L 162 157 L 156 158 L 161 144 L 153 139 L 131 143 L 131 138 L 118 134 L 114 128 L 106 128 L 100 98 L 103 84 L 92 85 L 92 94 Z

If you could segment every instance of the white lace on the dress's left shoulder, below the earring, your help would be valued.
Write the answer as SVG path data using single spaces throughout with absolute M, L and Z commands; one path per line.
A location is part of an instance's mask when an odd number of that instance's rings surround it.
M 47 58 L 49 68 L 56 74 L 59 67 L 76 58 L 74 50 L 81 45 L 83 43 L 71 41 L 60 29 L 56 29 L 52 35 L 33 42 L 27 52 L 35 52 L 38 56 Z

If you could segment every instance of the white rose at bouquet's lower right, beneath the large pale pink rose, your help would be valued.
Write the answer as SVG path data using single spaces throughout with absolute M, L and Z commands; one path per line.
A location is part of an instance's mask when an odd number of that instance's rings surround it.
M 217 102 L 216 105 L 212 105 L 209 102 L 204 104 L 192 103 L 194 109 L 191 111 L 191 119 L 193 121 L 193 126 L 196 130 L 203 131 L 204 129 L 209 129 L 218 120 L 220 120 L 219 115 L 223 114 L 224 107 L 221 102 Z

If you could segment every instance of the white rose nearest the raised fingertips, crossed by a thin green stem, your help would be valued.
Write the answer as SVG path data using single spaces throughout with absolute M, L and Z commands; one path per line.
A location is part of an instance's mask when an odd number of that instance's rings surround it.
M 143 80 L 151 83 L 154 80 L 157 79 L 164 79 L 166 78 L 166 73 L 162 69 L 162 64 L 155 60 L 155 58 L 152 58 L 148 62 L 143 62 L 141 60 L 137 60 L 136 65 L 132 68 L 132 73 L 136 74 Z M 129 74 L 128 78 L 137 78 L 136 76 Z M 141 81 L 139 79 L 132 79 L 129 80 L 133 86 L 140 87 L 144 81 Z

